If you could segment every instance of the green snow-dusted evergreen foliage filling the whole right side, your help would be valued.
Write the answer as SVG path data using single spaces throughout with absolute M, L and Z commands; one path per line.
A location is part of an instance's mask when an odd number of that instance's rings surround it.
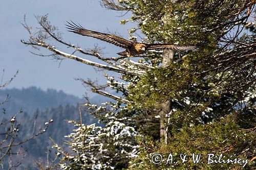
M 207 41 L 199 51 L 175 53 L 167 68 L 160 63 L 129 87 L 129 108 L 155 114 L 170 100 L 165 122 L 167 144 L 139 138 L 140 154 L 129 169 L 231 169 L 241 165 L 154 165 L 154 153 L 226 153 L 252 162 L 255 155 L 255 17 L 254 1 L 118 1 L 106 8 L 129 10 L 130 21 L 145 41 L 195 44 Z M 125 23 L 129 20 L 121 21 Z M 243 25 L 251 31 L 243 33 Z M 241 34 L 240 34 L 241 33 Z M 157 54 L 161 58 L 161 54 Z M 147 59 L 145 59 L 148 61 Z M 247 116 L 245 116 L 247 115 Z M 156 116 L 159 118 L 158 116 Z M 242 118 L 243 117 L 243 118 Z M 221 120 L 221 121 L 220 121 Z M 220 121 L 220 122 L 219 122 Z M 166 128 L 166 129 L 167 129 Z M 252 128 L 252 129 L 250 129 Z M 153 129 L 153 128 L 152 128 Z M 142 133 L 143 134 L 143 133 Z M 145 134 L 145 133 L 144 133 Z M 229 147 L 227 149 L 227 146 Z

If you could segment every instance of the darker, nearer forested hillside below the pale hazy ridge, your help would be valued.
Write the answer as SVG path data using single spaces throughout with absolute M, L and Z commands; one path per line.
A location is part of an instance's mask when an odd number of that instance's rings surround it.
M 20 128 L 20 131 L 22 132 L 21 136 L 24 136 L 24 138 L 32 133 L 34 118 L 35 115 L 25 115 L 22 117 L 20 124 L 24 126 Z M 60 105 L 46 111 L 38 111 L 36 129 L 44 126 L 50 119 L 53 120 L 53 123 L 51 123 L 44 134 L 23 144 L 23 149 L 27 150 L 27 156 L 20 168 L 37 169 L 38 167 L 35 166 L 35 162 L 41 161 L 45 163 L 48 154 L 50 159 L 55 158 L 55 151 L 51 151 L 53 142 L 50 140 L 50 137 L 60 145 L 65 141 L 64 136 L 72 133 L 72 129 L 74 129 L 74 126 L 68 123 L 68 120 L 79 121 L 78 105 Z M 82 115 L 82 120 L 84 124 L 97 124 L 97 119 L 88 113 Z M 26 124 L 26 122 L 29 122 L 29 124 Z

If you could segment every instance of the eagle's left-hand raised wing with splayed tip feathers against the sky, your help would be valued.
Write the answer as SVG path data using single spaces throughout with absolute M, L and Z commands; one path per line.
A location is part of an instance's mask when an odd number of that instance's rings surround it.
M 67 29 L 69 29 L 70 32 L 80 34 L 80 35 L 83 35 L 83 36 L 97 38 L 97 39 L 100 39 L 102 41 L 112 43 L 116 46 L 120 46 L 122 48 L 127 48 L 127 47 L 132 45 L 131 41 L 128 41 L 124 38 L 121 38 L 121 37 L 118 37 L 118 36 L 115 36 L 115 35 L 112 35 L 112 34 L 105 34 L 105 33 L 100 33 L 100 32 L 96 32 L 96 31 L 87 30 L 87 29 L 84 29 L 80 25 L 76 25 L 73 21 L 71 21 L 71 22 L 72 23 L 68 22 L 69 25 L 66 25 Z

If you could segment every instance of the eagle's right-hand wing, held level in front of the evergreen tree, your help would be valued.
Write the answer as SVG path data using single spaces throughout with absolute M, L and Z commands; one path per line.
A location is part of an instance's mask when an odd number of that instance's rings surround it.
M 197 45 L 176 45 L 176 44 L 147 44 L 147 50 L 195 50 Z

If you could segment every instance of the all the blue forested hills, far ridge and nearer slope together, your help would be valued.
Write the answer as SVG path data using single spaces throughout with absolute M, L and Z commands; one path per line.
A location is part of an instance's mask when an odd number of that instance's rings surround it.
M 13 116 L 21 108 L 22 113 L 15 117 L 19 124 L 19 135 L 16 141 L 23 141 L 40 128 L 44 127 L 51 119 L 53 122 L 49 125 L 45 133 L 22 144 L 22 152 L 26 151 L 26 157 L 19 169 L 38 169 L 35 162 L 45 163 L 47 155 L 49 159 L 54 158 L 54 152 L 51 152 L 53 142 L 50 137 L 57 143 L 63 143 L 64 136 L 72 133 L 73 125 L 68 120 L 79 121 L 79 105 L 82 100 L 74 95 L 66 94 L 63 91 L 49 89 L 43 91 L 36 87 L 23 89 L 3 89 L 0 90 L 0 98 L 3 101 L 6 95 L 10 98 L 8 102 L 1 105 L 5 109 L 5 118 Z M 93 98 L 93 102 L 99 101 L 99 96 Z M 86 113 L 82 109 L 82 121 L 84 124 L 97 124 L 97 119 Z M 3 131 L 3 129 L 0 129 Z M 34 132 L 33 132 L 34 131 Z M 3 139 L 2 139 L 3 140 Z M 16 160 L 15 156 L 13 156 Z M 7 160 L 4 168 L 8 167 Z

